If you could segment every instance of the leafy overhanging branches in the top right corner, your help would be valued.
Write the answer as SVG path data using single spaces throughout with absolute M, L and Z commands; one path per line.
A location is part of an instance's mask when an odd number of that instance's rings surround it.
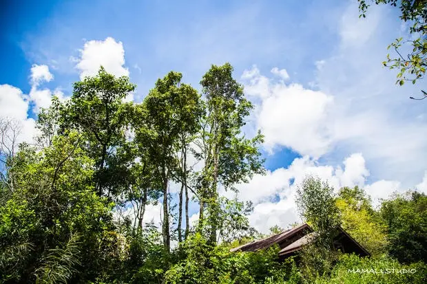
M 360 17 L 366 17 L 369 4 L 366 0 L 358 1 Z M 417 80 L 424 78 L 427 68 L 427 0 L 372 0 L 372 2 L 377 5 L 399 6 L 401 12 L 399 18 L 410 25 L 409 39 L 403 40 L 401 37 L 387 47 L 395 50 L 397 58 L 390 58 L 388 54 L 383 65 L 399 70 L 396 81 L 399 85 L 404 85 L 405 81 L 415 84 Z M 410 45 L 411 49 L 406 56 L 399 52 L 404 45 Z M 427 94 L 424 91 L 423 94 L 426 98 Z

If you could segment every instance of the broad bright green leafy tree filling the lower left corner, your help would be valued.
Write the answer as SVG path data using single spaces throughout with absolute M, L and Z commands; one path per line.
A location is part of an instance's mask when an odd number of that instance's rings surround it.
M 114 270 L 112 204 L 96 195 L 81 142 L 74 132 L 42 151 L 20 146 L 16 188 L 0 208 L 0 279 L 87 282 Z

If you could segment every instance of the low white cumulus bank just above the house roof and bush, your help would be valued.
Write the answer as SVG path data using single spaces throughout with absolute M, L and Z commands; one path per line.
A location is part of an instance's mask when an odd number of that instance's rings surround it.
M 312 175 L 328 181 L 335 192 L 343 186 L 362 186 L 373 197 L 374 205 L 379 198 L 386 198 L 395 190 L 402 191 L 399 182 L 379 181 L 365 184 L 369 171 L 362 154 L 353 153 L 342 162 L 343 166 L 320 165 L 308 156 L 293 160 L 287 168 L 267 171 L 267 175 L 256 175 L 248 184 L 239 184 L 238 197 L 253 201 L 254 210 L 249 216 L 251 225 L 261 232 L 268 232 L 274 225 L 287 227 L 300 222 L 295 207 L 295 193 L 304 177 Z M 231 197 L 231 193 L 223 193 Z

